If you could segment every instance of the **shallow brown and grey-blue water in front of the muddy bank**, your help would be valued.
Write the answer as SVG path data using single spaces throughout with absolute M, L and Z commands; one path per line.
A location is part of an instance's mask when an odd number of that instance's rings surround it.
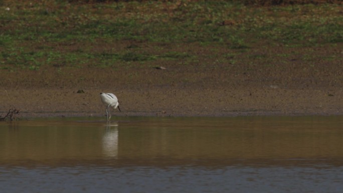
M 340 192 L 343 117 L 0 123 L 1 192 Z

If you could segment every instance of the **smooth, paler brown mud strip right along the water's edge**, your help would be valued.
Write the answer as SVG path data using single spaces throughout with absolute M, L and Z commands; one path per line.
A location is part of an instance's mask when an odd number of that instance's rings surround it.
M 111 89 L 9 89 L 11 103 L 2 109 L 20 110 L 21 118 L 103 117 L 105 107 L 99 93 Z M 114 92 L 121 112 L 115 116 L 150 117 L 232 117 L 342 115 L 341 90 L 327 94 L 318 89 L 246 88 L 228 92 L 222 89 L 150 89 Z M 2 96 L 4 100 L 4 96 Z M 6 96 L 7 97 L 7 96 Z M 4 115 L 6 111 L 2 111 Z

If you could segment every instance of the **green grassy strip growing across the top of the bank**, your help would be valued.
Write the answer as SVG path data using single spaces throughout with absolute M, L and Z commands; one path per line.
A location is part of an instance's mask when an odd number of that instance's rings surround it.
M 162 49 L 185 44 L 235 53 L 261 45 L 343 42 L 343 16 L 334 4 L 249 7 L 230 1 L 77 4 L 56 0 L 0 6 L 12 8 L 0 12 L 2 69 L 197 60 L 199 56 L 187 49 Z M 128 43 L 120 47 L 118 42 Z M 145 51 L 141 44 L 154 46 Z

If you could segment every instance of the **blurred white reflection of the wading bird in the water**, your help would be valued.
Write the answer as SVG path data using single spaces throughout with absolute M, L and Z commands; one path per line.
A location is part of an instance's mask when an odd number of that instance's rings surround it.
M 114 128 L 111 129 L 111 126 Z M 118 155 L 118 125 L 107 125 L 106 133 L 102 137 L 103 154 L 107 157 L 116 157 Z

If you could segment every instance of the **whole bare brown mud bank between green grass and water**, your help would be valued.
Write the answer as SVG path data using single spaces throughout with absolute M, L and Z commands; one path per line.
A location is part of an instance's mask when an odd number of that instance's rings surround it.
M 37 71 L 1 70 L 0 111 L 4 114 L 16 108 L 22 117 L 105 116 L 99 93 L 112 92 L 122 110 L 112 110 L 114 116 L 343 114 L 343 57 L 321 59 L 332 53 L 342 56 L 338 46 L 312 50 L 312 60 L 289 54 L 282 63 L 274 56 L 292 50 L 249 51 L 264 52 L 268 65 L 242 53 L 235 64 L 204 57 L 187 65 L 170 60 L 103 69 L 41 66 Z M 213 54 L 210 49 L 201 53 Z

